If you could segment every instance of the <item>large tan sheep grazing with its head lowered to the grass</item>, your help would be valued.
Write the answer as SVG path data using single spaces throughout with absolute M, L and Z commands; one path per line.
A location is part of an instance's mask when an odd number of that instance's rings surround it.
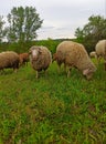
M 87 80 L 91 80 L 93 73 L 96 71 L 96 66 L 92 62 L 83 44 L 73 41 L 63 41 L 57 45 L 55 55 L 59 66 L 62 63 L 68 66 L 67 78 L 70 76 L 72 68 L 82 71 Z

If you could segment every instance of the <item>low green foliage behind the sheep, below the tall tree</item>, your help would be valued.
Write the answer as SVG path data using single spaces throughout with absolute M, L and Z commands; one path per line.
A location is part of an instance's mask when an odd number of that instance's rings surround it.
M 54 53 L 56 50 L 57 44 L 61 42 L 62 40 L 39 40 L 39 41 L 28 41 L 28 42 L 14 42 L 14 43 L 7 43 L 3 42 L 0 44 L 0 51 L 15 51 L 18 53 L 22 53 L 22 52 L 29 52 L 29 49 L 32 45 L 44 45 L 47 47 L 47 49 Z

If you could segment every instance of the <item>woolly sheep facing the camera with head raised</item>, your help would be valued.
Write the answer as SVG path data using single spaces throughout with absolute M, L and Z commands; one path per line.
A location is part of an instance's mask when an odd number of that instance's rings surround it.
M 46 47 L 33 45 L 29 50 L 30 62 L 32 68 L 36 71 L 36 79 L 39 78 L 39 72 L 45 70 L 50 66 L 52 62 L 52 54 Z

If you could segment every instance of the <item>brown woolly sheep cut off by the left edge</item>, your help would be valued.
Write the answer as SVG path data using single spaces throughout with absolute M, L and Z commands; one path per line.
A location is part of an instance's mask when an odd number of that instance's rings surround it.
M 19 69 L 19 54 L 13 51 L 6 51 L 0 53 L 0 70 L 13 68 L 17 72 Z

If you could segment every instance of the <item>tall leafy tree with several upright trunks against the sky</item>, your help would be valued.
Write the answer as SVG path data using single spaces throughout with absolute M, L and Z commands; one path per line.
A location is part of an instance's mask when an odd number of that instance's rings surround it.
M 8 14 L 8 41 L 25 42 L 38 37 L 36 30 L 41 28 L 43 20 L 40 19 L 35 8 L 14 7 Z

